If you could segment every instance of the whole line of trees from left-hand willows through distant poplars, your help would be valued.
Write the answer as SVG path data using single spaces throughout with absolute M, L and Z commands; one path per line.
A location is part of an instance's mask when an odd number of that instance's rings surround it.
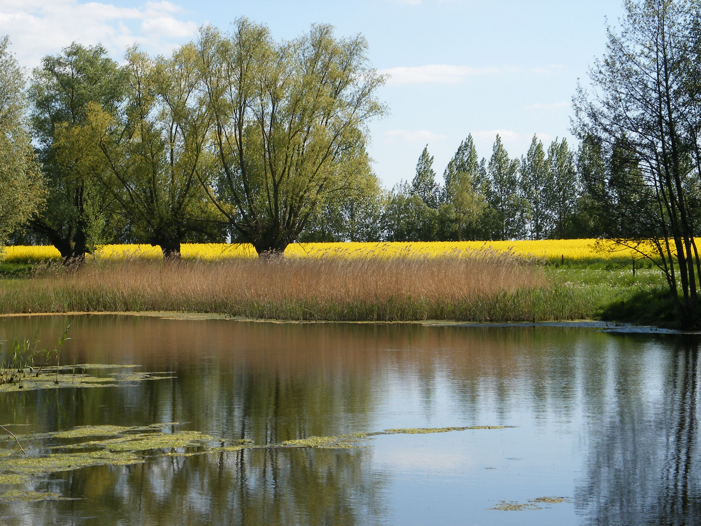
M 472 137 L 436 182 L 423 150 L 391 191 L 372 172 L 367 122 L 384 79 L 362 37 L 315 26 L 294 41 L 240 19 L 170 57 L 122 64 L 74 43 L 25 79 L 4 39 L 0 242 L 81 260 L 104 243 L 439 241 L 604 234 L 587 191 L 591 149 L 565 140 L 489 160 Z M 34 144 L 34 148 L 32 148 Z M 587 164 L 588 163 L 588 164 Z

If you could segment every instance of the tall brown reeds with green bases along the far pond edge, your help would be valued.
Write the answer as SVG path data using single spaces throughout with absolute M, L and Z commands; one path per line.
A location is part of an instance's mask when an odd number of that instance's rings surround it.
M 532 321 L 590 306 L 515 255 L 90 262 L 0 290 L 0 311 L 185 311 L 329 321 Z

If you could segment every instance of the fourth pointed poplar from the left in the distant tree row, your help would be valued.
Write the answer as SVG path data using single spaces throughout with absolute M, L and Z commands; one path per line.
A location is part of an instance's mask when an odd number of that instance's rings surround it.
M 543 143 L 533 135 L 531 147 L 521 162 L 521 181 L 524 198 L 529 205 L 529 227 L 531 238 L 543 239 L 552 224 L 550 215 L 550 197 L 552 196 L 552 177 L 547 163 Z

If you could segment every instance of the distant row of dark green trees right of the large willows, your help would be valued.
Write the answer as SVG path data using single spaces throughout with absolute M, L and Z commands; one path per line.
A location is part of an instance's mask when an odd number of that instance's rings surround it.
M 637 159 L 622 142 L 606 151 L 585 135 L 576 150 L 565 139 L 536 136 L 511 158 L 496 136 L 479 159 L 472 135 L 461 142 L 437 182 L 428 145 L 416 173 L 391 191 L 376 184 L 353 198 L 329 201 L 311 218 L 304 241 L 479 241 L 615 238 L 647 235 L 635 219 L 644 185 Z M 701 195 L 700 195 L 701 198 Z

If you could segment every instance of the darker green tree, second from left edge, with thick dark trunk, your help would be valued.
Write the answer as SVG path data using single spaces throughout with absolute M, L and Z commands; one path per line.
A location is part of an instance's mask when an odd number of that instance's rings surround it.
M 102 46 L 72 43 L 62 54 L 46 56 L 34 70 L 29 96 L 32 131 L 39 144 L 39 161 L 48 189 L 46 207 L 30 226 L 46 236 L 65 262 L 82 261 L 90 232 L 109 216 L 112 200 L 90 175 L 76 168 L 76 156 L 57 148 L 57 130 L 86 124 L 93 102 L 116 114 L 123 100 L 123 70 Z

